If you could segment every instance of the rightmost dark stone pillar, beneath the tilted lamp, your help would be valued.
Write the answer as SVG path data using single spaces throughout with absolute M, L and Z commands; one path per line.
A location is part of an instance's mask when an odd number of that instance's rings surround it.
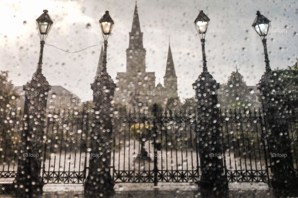
M 277 197 L 297 196 L 298 178 L 294 171 L 287 123 L 291 106 L 287 105 L 286 95 L 278 94 L 284 91 L 284 87 L 275 72 L 266 71 L 258 86 L 267 124 L 265 135 L 270 148 L 273 192 Z

